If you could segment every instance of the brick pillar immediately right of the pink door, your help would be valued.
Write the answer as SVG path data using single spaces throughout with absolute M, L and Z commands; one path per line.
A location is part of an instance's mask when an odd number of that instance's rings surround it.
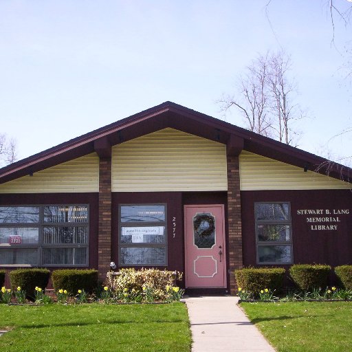
M 234 270 L 243 267 L 241 192 L 239 186 L 239 157 L 228 155 L 228 253 L 230 261 L 230 292 L 234 294 Z

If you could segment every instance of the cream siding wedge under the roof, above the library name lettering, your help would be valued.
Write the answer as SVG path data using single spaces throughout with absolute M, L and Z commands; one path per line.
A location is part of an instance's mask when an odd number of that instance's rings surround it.
M 241 190 L 348 189 L 352 184 L 243 151 L 239 157 Z

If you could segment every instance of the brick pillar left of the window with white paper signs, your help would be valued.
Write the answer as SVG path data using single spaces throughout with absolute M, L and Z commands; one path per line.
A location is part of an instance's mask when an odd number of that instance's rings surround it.
M 107 278 L 111 262 L 111 157 L 99 161 L 99 230 L 98 271 L 100 280 Z

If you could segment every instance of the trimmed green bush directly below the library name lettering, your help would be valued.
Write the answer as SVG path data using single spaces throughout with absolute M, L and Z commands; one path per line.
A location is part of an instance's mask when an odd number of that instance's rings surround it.
M 330 265 L 321 264 L 296 264 L 289 268 L 294 283 L 303 291 L 327 287 L 330 271 Z

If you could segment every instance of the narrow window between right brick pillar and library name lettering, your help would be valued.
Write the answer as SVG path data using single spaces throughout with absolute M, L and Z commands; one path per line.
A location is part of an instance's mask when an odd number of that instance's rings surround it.
M 289 203 L 255 203 L 258 264 L 292 263 L 292 224 Z

